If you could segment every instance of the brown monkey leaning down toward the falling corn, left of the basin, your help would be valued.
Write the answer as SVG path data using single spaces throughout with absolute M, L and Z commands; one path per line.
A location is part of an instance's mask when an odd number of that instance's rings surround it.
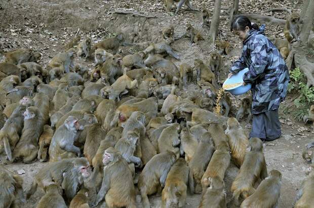
M 197 81 L 202 79 L 210 82 L 216 89 L 220 88 L 216 82 L 215 74 L 201 59 L 194 60 L 194 68 L 197 71 Z

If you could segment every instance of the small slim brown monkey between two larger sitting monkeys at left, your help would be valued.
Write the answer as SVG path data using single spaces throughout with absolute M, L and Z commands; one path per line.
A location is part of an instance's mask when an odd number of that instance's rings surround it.
M 51 142 L 51 139 L 53 137 L 53 130 L 49 125 L 44 126 L 44 132 L 39 138 L 39 150 L 37 154 L 37 159 L 40 160 L 41 162 L 46 162 L 47 161 L 47 156 L 48 156 L 48 148 Z

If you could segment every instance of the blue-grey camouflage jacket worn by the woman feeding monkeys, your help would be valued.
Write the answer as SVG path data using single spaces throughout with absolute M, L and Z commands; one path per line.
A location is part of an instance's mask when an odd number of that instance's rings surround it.
M 287 95 L 289 71 L 279 50 L 264 35 L 265 25 L 250 30 L 243 41 L 242 56 L 229 70 L 236 74 L 249 68 L 243 75 L 246 84 L 252 85 L 253 113 L 258 114 L 279 108 Z

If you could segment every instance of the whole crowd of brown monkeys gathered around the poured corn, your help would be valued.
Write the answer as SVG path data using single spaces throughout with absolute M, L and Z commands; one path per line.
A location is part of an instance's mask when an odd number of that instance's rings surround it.
M 166 1 L 169 11 L 174 2 Z M 194 10 L 189 1 L 180 1 Z M 203 23 L 210 24 L 204 10 Z M 287 20 L 283 47 L 298 40 L 299 16 Z M 232 117 L 232 96 L 221 88 L 225 40 L 215 42 L 209 60 L 194 66 L 180 60 L 171 45 L 188 36 L 190 44 L 204 40 L 191 24 L 175 37 L 174 26 L 162 29 L 163 40 L 122 57 L 123 33 L 92 45 L 76 35 L 47 65 L 30 49 L 4 53 L 0 63 L 1 163 L 47 162 L 29 189 L 17 174 L 0 167 L 0 207 L 22 207 L 40 187 L 45 195 L 36 207 L 150 207 L 149 195 L 161 194 L 161 207 L 184 207 L 187 192 L 202 194 L 199 207 L 277 207 L 282 175 L 267 172 L 263 143 L 248 138 L 239 120 L 252 118 L 252 97 L 243 98 Z M 287 42 L 286 42 L 287 41 Z M 287 50 L 288 49 L 288 50 Z M 111 53 L 110 53 L 111 52 Z M 93 68 L 74 58 L 94 57 Z M 189 94 L 189 84 L 200 88 Z M 304 122 L 314 120 L 314 105 Z M 314 142 L 304 159 L 311 163 Z M 230 162 L 239 169 L 227 201 L 224 176 Z M 294 207 L 312 207 L 314 167 L 308 170 Z

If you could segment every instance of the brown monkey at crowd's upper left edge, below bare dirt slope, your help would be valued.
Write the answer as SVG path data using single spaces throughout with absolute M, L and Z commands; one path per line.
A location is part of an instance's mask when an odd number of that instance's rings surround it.
M 4 54 L 6 62 L 11 64 L 21 64 L 29 62 L 33 52 L 31 49 L 14 49 Z

